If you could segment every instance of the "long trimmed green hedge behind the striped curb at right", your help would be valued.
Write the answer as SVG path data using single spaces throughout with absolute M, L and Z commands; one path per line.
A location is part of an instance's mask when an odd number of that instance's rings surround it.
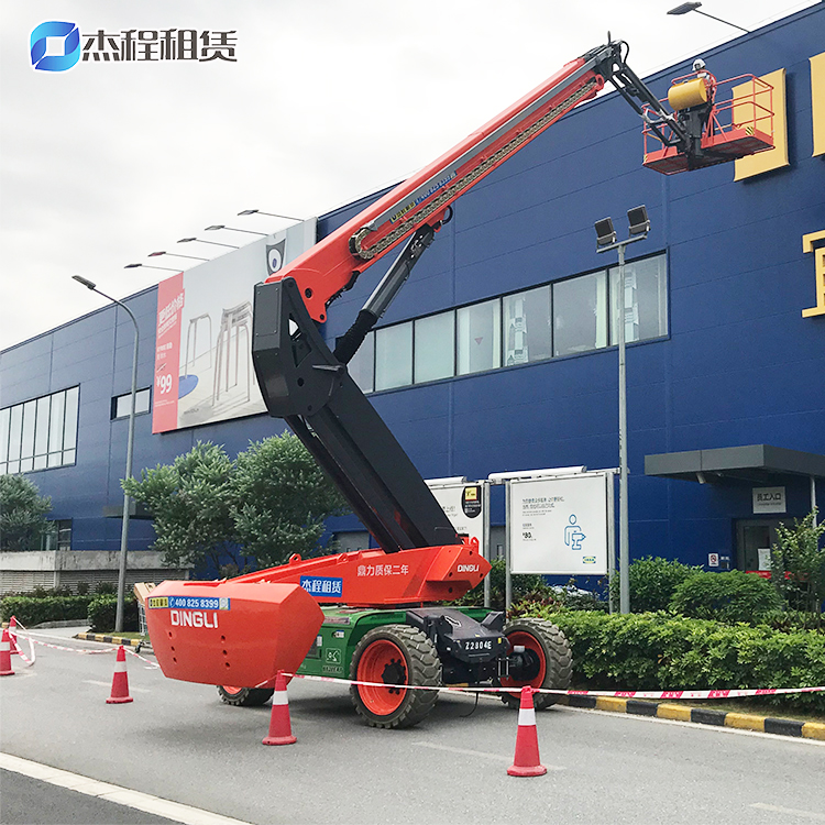
M 664 613 L 605 615 L 521 606 L 568 637 L 574 679 L 594 690 L 704 690 L 825 685 L 825 636 L 723 625 Z M 759 696 L 825 711 L 823 693 Z

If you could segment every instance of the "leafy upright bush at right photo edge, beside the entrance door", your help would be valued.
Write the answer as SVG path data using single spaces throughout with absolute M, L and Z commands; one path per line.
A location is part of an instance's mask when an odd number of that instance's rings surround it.
M 825 524 L 816 524 L 816 507 L 791 526 L 777 526 L 771 549 L 771 580 L 791 608 L 822 614 L 825 600 L 825 548 L 820 539 Z

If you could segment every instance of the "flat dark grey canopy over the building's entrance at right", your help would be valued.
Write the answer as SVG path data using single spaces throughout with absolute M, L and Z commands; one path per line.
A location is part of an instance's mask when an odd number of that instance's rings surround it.
M 702 484 L 741 481 L 770 485 L 785 475 L 825 479 L 825 455 L 770 444 L 663 452 L 645 457 L 645 475 Z

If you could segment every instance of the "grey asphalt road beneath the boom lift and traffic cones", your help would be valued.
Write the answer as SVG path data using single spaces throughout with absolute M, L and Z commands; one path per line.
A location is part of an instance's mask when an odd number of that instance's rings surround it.
M 124 705 L 106 704 L 113 653 L 14 659 L 0 680 L 0 750 L 249 823 L 825 822 L 814 740 L 552 708 L 537 714 L 548 773 L 520 779 L 506 773 L 517 715 L 498 702 L 474 710 L 449 694 L 421 725 L 384 732 L 364 726 L 344 688 L 294 680 L 298 741 L 264 747 L 268 705 L 222 705 L 213 688 L 133 657 Z M 123 822 L 157 822 L 143 816 Z

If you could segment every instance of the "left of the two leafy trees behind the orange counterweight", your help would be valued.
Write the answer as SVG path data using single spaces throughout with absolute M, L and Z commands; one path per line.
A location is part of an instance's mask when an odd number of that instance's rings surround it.
M 233 462 L 222 447 L 198 441 L 172 464 L 144 470 L 141 481 L 127 479 L 123 490 L 146 505 L 154 518 L 153 549 L 164 564 L 215 569 L 227 556 L 238 565 L 238 536 L 232 519 Z

